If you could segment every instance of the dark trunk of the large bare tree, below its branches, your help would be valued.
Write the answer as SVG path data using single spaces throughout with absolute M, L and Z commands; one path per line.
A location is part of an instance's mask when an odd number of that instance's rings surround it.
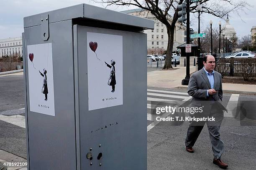
M 168 45 L 166 51 L 166 60 L 164 63 L 164 69 L 172 68 L 172 48 L 173 48 L 173 40 L 174 40 L 174 26 L 166 27 L 168 34 Z

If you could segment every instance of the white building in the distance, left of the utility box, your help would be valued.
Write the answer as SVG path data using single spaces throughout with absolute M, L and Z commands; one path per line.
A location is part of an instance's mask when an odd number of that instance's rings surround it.
M 0 40 L 0 57 L 20 55 L 22 57 L 22 37 Z

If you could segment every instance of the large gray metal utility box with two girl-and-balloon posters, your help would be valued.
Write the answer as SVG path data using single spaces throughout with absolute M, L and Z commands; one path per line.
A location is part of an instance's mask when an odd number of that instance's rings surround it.
M 145 29 L 87 4 L 24 18 L 29 170 L 146 170 Z

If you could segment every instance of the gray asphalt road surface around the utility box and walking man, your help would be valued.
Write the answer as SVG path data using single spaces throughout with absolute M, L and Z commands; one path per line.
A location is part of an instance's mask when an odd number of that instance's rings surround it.
M 20 109 L 24 107 L 23 76 L 0 77 L 0 112 L 4 110 Z M 166 92 L 184 92 L 186 90 L 159 89 L 148 87 L 151 90 L 165 90 L 155 92 L 156 99 Z M 148 97 L 154 98 L 153 92 Z M 152 96 L 153 94 L 153 96 Z M 224 94 L 224 105 L 232 104 L 232 94 Z M 176 97 L 179 96 L 176 94 Z M 186 95 L 180 95 L 186 96 Z M 174 96 L 175 98 L 175 96 Z M 256 110 L 255 95 L 239 95 L 239 102 L 243 107 Z M 251 101 L 251 102 L 250 102 Z M 150 103 L 148 98 L 148 103 Z M 150 114 L 150 109 L 148 109 Z M 251 121 L 255 122 L 253 115 Z M 254 120 L 253 120 L 254 119 Z M 220 135 L 225 143 L 225 152 L 222 160 L 228 163 L 230 170 L 252 170 L 256 165 L 256 126 L 248 124 L 236 124 L 238 120 L 234 117 L 224 117 L 220 128 Z M 153 121 L 148 120 L 148 125 Z M 148 170 L 218 170 L 212 164 L 212 149 L 207 127 L 205 126 L 196 144 L 195 153 L 187 153 L 184 147 L 188 122 L 175 126 L 170 122 L 159 122 L 148 130 Z M 22 158 L 26 158 L 26 134 L 25 129 L 11 123 L 0 120 L 0 150 L 5 150 Z

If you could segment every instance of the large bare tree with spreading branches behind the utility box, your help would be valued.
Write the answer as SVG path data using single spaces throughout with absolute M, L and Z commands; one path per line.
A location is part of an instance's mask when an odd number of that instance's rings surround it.
M 101 2 L 110 5 L 133 5 L 143 10 L 147 10 L 148 13 L 153 14 L 161 23 L 166 25 L 168 34 L 168 45 L 166 53 L 166 62 L 164 69 L 172 68 L 172 51 L 174 41 L 174 29 L 175 23 L 178 20 L 178 5 L 186 2 L 186 0 L 95 0 L 95 2 Z M 239 15 L 239 11 L 245 11 L 245 8 L 250 5 L 244 0 L 200 0 L 199 2 L 190 3 L 190 12 L 196 13 L 198 3 L 203 7 L 203 13 L 209 13 L 219 18 L 223 18 L 227 13 L 235 12 Z M 170 20 L 169 16 L 173 16 Z

